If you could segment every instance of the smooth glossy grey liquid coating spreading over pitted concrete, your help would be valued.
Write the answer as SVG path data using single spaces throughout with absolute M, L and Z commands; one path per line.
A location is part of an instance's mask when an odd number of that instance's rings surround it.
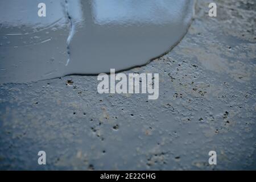
M 0 2 L 0 83 L 108 73 L 147 64 L 187 32 L 192 0 Z

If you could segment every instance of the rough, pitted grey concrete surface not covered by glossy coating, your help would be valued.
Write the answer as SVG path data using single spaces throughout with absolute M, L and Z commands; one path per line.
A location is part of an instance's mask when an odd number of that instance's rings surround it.
M 158 100 L 98 94 L 97 76 L 1 84 L 0 169 L 256 169 L 256 2 L 216 0 L 216 18 L 209 2 L 170 53 L 124 72 L 159 73 Z

